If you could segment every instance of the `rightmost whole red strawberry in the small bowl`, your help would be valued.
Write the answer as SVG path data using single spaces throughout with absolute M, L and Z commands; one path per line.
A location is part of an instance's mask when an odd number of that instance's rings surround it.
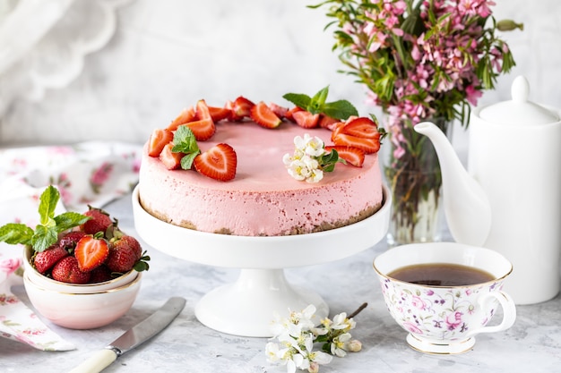
M 113 272 L 125 273 L 133 268 L 140 272 L 148 269 L 143 260 L 149 259 L 142 257 L 142 247 L 133 236 L 117 235 L 109 242 L 109 256 L 105 263 Z

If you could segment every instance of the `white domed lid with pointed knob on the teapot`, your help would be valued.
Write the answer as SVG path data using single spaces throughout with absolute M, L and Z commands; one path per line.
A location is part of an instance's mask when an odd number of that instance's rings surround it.
M 522 75 L 511 87 L 512 100 L 487 106 L 481 110 L 481 119 L 490 123 L 535 125 L 559 122 L 559 115 L 544 106 L 528 101 L 530 84 Z

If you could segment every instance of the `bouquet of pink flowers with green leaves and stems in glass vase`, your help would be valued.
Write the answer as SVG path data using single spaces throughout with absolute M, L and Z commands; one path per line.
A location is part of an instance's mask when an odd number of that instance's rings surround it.
M 491 12 L 494 4 L 327 0 L 311 6 L 328 7 L 333 21 L 327 28 L 336 28 L 333 50 L 341 52 L 346 67 L 341 72 L 364 84 L 368 99 L 386 114 L 392 151 L 385 174 L 393 191 L 393 223 L 405 227 L 401 243 L 419 241 L 412 233 L 419 224 L 418 205 L 430 191 L 437 203 L 441 183 L 434 149 L 413 126 L 430 120 L 446 132 L 453 120 L 467 125 L 470 105 L 514 66 L 496 31 L 522 25 L 497 22 Z

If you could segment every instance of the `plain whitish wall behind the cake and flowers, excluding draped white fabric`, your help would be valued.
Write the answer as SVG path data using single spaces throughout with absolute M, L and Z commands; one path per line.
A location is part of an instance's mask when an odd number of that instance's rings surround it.
M 86 57 L 78 78 L 48 89 L 39 102 L 10 106 L 0 118 L 0 145 L 142 143 L 200 98 L 216 106 L 239 95 L 287 104 L 284 93 L 312 94 L 328 84 L 331 98 L 377 114 L 364 104 L 362 87 L 336 72 L 341 64 L 331 51 L 332 32 L 324 31 L 324 10 L 306 8 L 315 3 L 135 0 L 117 10 L 114 37 Z M 496 0 L 494 13 L 525 29 L 503 34 L 517 66 L 479 104 L 509 99 L 511 82 L 523 74 L 531 100 L 560 107 L 561 2 Z

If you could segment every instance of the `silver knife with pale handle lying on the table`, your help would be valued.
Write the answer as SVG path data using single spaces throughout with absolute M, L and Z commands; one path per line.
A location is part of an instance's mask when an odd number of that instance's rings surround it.
M 169 298 L 160 309 L 127 330 L 125 334 L 108 344 L 104 349 L 95 352 L 82 364 L 72 369 L 70 373 L 99 373 L 106 369 L 123 353 L 134 349 L 134 347 L 148 341 L 165 329 L 177 317 L 185 304 L 186 300 L 184 298 Z

